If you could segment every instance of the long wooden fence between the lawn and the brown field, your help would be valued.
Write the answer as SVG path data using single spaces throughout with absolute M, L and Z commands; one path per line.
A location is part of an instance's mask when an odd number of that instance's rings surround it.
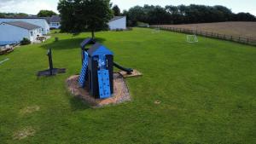
M 160 28 L 161 30 L 172 31 L 172 32 L 182 32 L 187 34 L 195 34 L 203 37 L 218 38 L 226 41 L 232 41 L 236 43 L 244 43 L 244 44 L 256 46 L 256 39 L 253 39 L 252 37 L 230 36 L 230 35 L 225 35 L 225 34 L 220 34 L 215 32 L 203 32 L 203 31 L 169 27 L 169 26 L 150 26 L 150 27 Z

